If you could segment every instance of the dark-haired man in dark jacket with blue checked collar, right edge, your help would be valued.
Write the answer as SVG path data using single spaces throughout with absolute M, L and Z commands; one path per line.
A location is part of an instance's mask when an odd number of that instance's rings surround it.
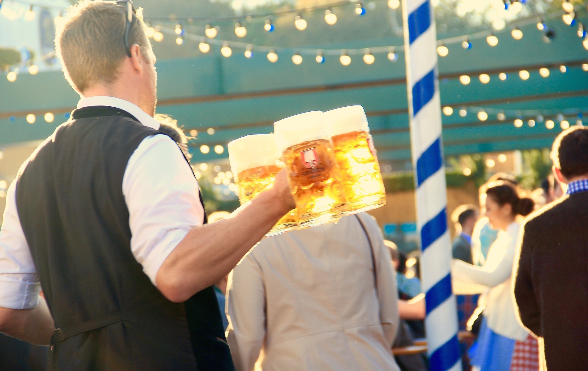
M 588 367 L 588 128 L 572 127 L 553 143 L 562 198 L 524 224 L 514 291 L 523 325 L 539 338 L 542 369 Z M 565 188 L 565 187 L 563 187 Z

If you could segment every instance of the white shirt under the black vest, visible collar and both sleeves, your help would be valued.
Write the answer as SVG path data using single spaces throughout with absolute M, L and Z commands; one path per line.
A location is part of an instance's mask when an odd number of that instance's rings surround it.
M 116 107 L 159 129 L 153 117 L 126 100 L 95 96 L 78 102 L 78 109 L 89 106 Z M 38 304 L 41 285 L 18 217 L 15 183 L 6 193 L 0 229 L 0 306 L 31 309 Z M 153 285 L 163 261 L 192 228 L 202 224 L 204 208 L 198 192 L 192 169 L 169 136 L 146 137 L 129 158 L 122 193 L 129 210 L 131 251 Z

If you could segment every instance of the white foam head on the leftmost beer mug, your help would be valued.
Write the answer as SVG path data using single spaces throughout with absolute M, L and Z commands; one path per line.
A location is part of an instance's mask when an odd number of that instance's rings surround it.
M 276 165 L 282 156 L 273 134 L 253 134 L 228 144 L 229 163 L 233 174 L 259 166 Z

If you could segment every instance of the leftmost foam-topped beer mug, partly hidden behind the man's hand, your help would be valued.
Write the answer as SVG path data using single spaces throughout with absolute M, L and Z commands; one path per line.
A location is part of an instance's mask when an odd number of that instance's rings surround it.
M 273 134 L 248 135 L 230 142 L 228 149 L 229 162 L 235 174 L 239 202 L 242 205 L 273 186 L 276 174 L 283 167 L 279 164 L 281 153 L 276 147 Z M 291 210 L 266 237 L 292 230 L 297 224 L 296 210 Z

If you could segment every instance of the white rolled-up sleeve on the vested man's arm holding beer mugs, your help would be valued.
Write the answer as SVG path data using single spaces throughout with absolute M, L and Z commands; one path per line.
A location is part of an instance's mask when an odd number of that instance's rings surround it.
M 198 181 L 170 137 L 143 139 L 122 181 L 131 251 L 153 285 L 159 268 L 192 228 L 202 225 Z

